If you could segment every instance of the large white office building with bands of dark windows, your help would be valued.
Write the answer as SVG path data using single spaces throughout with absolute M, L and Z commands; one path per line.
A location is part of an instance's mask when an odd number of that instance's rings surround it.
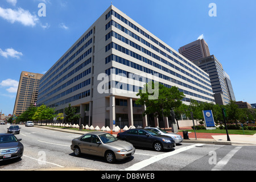
M 42 77 L 38 104 L 76 106 L 88 126 L 161 126 L 135 104 L 149 81 L 177 86 L 185 104 L 214 102 L 207 73 L 112 5 Z

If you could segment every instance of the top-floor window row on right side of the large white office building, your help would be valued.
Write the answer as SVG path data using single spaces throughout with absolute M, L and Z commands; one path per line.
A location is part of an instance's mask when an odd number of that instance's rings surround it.
M 192 67 L 193 69 L 195 69 L 196 71 L 200 72 L 202 75 L 208 77 L 207 74 L 204 73 L 204 71 L 202 71 L 201 69 L 195 67 L 195 65 L 191 64 L 189 61 L 183 59 L 182 57 L 180 57 L 179 55 L 177 55 L 175 52 L 172 52 L 171 49 L 169 49 L 168 47 L 164 46 L 162 43 L 158 42 L 158 40 L 152 38 L 152 36 L 148 35 L 146 32 L 144 32 L 143 30 L 141 30 L 141 28 L 135 26 L 133 23 L 129 22 L 129 20 L 123 18 L 123 16 L 119 15 L 118 13 L 116 13 L 113 10 L 110 10 L 108 14 L 106 14 L 106 20 L 111 16 L 115 16 L 115 18 L 118 18 L 119 20 L 121 20 L 123 23 L 127 24 L 128 26 L 130 26 L 131 28 L 133 28 L 134 30 L 136 30 L 137 32 L 139 32 L 140 34 L 142 34 L 143 36 L 145 36 L 147 39 L 151 40 L 152 42 L 154 42 L 155 44 L 157 44 L 158 46 L 162 47 L 163 49 L 165 49 L 166 51 L 170 52 L 172 55 L 174 55 L 175 57 L 177 57 L 178 59 L 180 59 L 181 61 L 183 61 L 185 64 L 189 65 L 189 67 Z

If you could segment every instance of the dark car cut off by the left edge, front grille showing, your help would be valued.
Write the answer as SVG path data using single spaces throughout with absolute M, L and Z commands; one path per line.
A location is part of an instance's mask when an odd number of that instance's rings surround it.
M 0 134 L 0 161 L 19 159 L 23 155 L 23 144 L 13 134 Z

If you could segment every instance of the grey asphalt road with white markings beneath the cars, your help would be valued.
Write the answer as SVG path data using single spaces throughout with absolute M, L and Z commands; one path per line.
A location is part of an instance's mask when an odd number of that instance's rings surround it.
M 6 133 L 8 125 L 0 125 Z M 133 157 L 108 164 L 104 158 L 82 155 L 77 158 L 70 148 L 77 134 L 38 127 L 22 127 L 24 153 L 20 160 L 0 162 L 1 170 L 93 169 L 100 171 L 247 171 L 256 169 L 256 146 L 225 146 L 183 143 L 174 150 L 156 152 L 136 148 Z

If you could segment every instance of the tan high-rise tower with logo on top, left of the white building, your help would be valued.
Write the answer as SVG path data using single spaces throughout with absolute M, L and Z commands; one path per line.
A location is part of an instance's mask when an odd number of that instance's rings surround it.
M 42 74 L 22 72 L 19 79 L 18 92 L 14 105 L 13 114 L 20 115 L 31 105 L 36 104 L 38 88 Z

